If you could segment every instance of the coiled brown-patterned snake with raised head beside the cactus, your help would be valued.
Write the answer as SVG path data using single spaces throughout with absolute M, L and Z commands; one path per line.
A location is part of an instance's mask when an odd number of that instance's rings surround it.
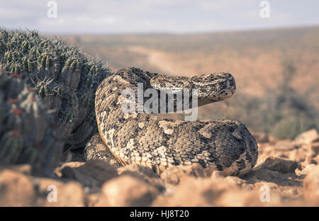
M 235 79 L 228 73 L 199 77 L 168 77 L 137 68 L 120 69 L 96 91 L 99 135 L 87 143 L 86 160 L 102 159 L 113 166 L 142 164 L 157 174 L 171 166 L 198 163 L 225 175 L 243 175 L 257 162 L 258 147 L 238 120 L 172 120 L 150 113 L 124 113 L 122 91 L 143 89 L 198 89 L 198 106 L 235 94 Z

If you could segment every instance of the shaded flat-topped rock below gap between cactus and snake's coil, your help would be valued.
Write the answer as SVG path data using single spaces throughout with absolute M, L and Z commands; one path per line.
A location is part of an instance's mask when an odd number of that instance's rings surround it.
M 99 159 L 86 163 L 67 163 L 62 166 L 61 173 L 62 178 L 79 181 L 83 186 L 89 186 L 92 192 L 99 191 L 104 182 L 118 176 L 113 166 Z

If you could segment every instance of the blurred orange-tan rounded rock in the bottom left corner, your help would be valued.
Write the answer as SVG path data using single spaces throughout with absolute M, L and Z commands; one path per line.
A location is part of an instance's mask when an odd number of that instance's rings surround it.
M 35 200 L 28 176 L 9 169 L 0 171 L 0 206 L 34 206 Z

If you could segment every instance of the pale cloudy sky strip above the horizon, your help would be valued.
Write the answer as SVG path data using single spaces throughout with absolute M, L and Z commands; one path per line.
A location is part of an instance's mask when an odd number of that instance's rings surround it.
M 319 25 L 318 0 L 0 0 L 0 26 L 41 33 L 198 33 Z M 52 12 L 52 11 L 51 11 Z

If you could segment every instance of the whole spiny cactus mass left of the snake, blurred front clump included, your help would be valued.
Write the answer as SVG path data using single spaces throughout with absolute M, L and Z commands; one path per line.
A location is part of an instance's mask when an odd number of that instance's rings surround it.
M 62 40 L 0 28 L 0 163 L 50 171 L 65 145 L 83 147 L 96 132 L 95 91 L 108 74 Z

